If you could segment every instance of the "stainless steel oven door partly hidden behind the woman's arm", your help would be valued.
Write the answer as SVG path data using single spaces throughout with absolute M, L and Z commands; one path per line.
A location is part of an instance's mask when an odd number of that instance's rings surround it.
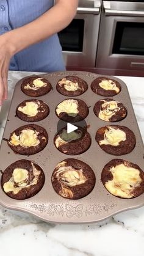
M 95 67 L 101 1 L 79 1 L 77 14 L 59 32 L 67 68 Z

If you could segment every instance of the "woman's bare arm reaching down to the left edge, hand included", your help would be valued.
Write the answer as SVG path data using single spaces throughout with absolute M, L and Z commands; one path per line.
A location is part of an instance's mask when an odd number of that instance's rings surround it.
M 59 32 L 73 20 L 78 0 L 56 0 L 37 20 L 0 36 L 0 105 L 7 98 L 7 70 L 10 58 L 18 51 Z M 31 36 L 29 36 L 31 35 Z

